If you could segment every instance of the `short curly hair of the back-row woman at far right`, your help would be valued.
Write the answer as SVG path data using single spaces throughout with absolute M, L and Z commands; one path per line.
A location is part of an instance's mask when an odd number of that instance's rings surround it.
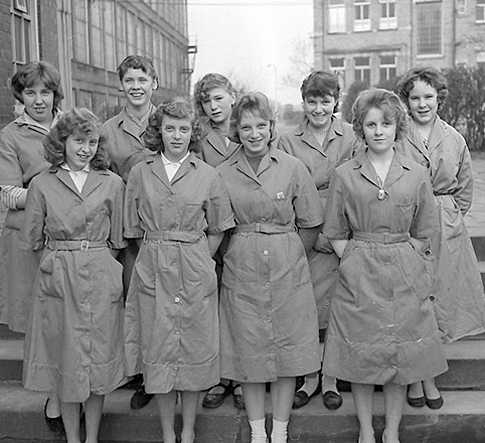
M 397 84 L 399 97 L 401 97 L 406 107 L 409 108 L 409 93 L 414 88 L 414 83 L 417 80 L 421 80 L 436 89 L 438 110 L 441 109 L 446 97 L 448 97 L 448 83 L 445 76 L 431 66 L 417 66 L 410 69 Z

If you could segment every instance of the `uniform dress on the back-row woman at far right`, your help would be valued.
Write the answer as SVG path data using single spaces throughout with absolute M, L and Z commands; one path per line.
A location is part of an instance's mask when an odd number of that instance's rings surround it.
M 432 296 L 445 342 L 485 331 L 485 296 L 464 216 L 473 196 L 473 172 L 464 138 L 439 117 L 428 147 L 414 122 L 398 149 L 428 169 L 440 229 L 433 236 L 437 257 Z

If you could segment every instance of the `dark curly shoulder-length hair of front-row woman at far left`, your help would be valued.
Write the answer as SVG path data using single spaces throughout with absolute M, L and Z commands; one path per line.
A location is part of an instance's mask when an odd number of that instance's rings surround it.
M 86 108 L 74 108 L 61 114 L 43 143 L 46 160 L 53 166 L 61 165 L 66 160 L 66 140 L 70 135 L 77 132 L 89 135 L 93 131 L 99 131 L 100 128 L 98 117 Z M 102 137 L 99 139 L 98 150 L 90 164 L 96 170 L 108 169 L 108 151 Z

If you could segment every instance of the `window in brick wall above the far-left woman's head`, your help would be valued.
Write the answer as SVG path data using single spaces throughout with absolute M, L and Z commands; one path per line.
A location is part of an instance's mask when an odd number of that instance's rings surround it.
M 36 5 L 32 0 L 14 1 L 11 10 L 11 35 L 14 71 L 30 60 L 38 59 Z

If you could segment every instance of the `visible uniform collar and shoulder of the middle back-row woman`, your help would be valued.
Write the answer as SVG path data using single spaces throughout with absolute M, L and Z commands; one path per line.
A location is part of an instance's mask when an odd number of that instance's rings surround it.
M 198 156 L 215 168 L 234 153 L 238 144 L 229 141 L 210 119 L 204 123 L 204 132 Z

